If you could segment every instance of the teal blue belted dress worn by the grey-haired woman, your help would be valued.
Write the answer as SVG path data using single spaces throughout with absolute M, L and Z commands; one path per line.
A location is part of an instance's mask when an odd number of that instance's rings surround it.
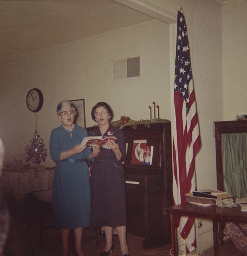
M 50 156 L 57 162 L 52 186 L 52 226 L 54 228 L 75 229 L 90 226 L 91 194 L 88 166 L 85 161 L 59 160 L 62 151 L 73 148 L 86 136 L 86 129 L 78 125 L 75 125 L 72 132 L 66 131 L 62 125 L 52 130 Z M 89 159 L 90 153 L 91 149 L 86 148 L 83 152 L 68 158 Z

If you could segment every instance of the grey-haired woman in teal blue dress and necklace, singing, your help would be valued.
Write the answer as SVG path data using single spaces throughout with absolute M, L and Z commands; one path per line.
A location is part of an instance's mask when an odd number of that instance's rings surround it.
M 52 130 L 50 156 L 56 161 L 52 187 L 52 226 L 59 228 L 62 236 L 62 256 L 68 256 L 68 233 L 74 229 L 75 250 L 82 251 L 83 228 L 91 223 L 91 195 L 88 166 L 85 159 L 98 155 L 99 148 L 81 146 L 87 136 L 85 128 L 74 124 L 76 108 L 68 101 L 57 106 L 62 125 Z

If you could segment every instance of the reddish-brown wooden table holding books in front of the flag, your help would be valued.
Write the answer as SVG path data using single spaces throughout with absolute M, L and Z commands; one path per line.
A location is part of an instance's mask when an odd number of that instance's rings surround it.
M 198 205 L 192 203 L 179 204 L 165 208 L 165 212 L 170 214 L 171 220 L 171 243 L 172 243 L 172 255 L 177 255 L 176 248 L 176 232 L 175 224 L 178 215 L 199 217 L 205 219 L 211 219 L 213 222 L 213 244 L 214 244 L 214 256 L 219 255 L 219 240 L 218 240 L 218 221 L 237 221 L 247 222 L 247 212 L 241 212 L 240 206 L 233 208 L 220 208 L 216 205 Z

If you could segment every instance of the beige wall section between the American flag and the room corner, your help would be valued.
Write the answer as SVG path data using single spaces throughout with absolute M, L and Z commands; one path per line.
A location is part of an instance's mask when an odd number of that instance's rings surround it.
M 210 3 L 210 4 L 209 4 Z M 213 122 L 222 120 L 221 6 L 196 1 L 193 10 L 192 71 L 202 147 L 195 158 L 198 189 L 216 188 Z

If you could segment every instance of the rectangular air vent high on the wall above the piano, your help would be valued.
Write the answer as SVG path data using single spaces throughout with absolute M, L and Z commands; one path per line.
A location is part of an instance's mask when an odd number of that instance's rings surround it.
M 114 61 L 114 79 L 140 76 L 140 57 Z

